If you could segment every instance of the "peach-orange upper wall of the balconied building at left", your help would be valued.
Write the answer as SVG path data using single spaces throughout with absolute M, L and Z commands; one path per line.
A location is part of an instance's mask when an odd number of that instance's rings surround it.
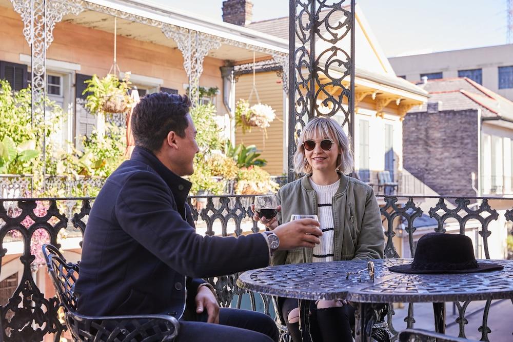
M 30 55 L 30 46 L 23 36 L 21 16 L 12 8 L 0 7 L 0 60 L 20 63 L 19 54 Z M 53 30 L 54 40 L 47 51 L 48 59 L 80 64 L 78 73 L 106 75 L 112 65 L 114 37 L 112 33 L 71 23 L 57 23 Z M 117 37 L 117 64 L 121 71 L 132 74 L 162 78 L 163 87 L 185 93 L 183 84 L 188 77 L 183 66 L 183 57 L 176 48 L 156 45 L 135 39 Z M 205 57 L 202 87 L 222 89 L 220 67 L 224 61 Z M 226 111 L 219 94 L 216 98 L 220 114 Z

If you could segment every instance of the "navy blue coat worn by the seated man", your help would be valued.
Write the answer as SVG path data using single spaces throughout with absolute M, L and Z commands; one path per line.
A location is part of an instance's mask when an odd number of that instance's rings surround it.
M 75 286 L 85 315 L 182 317 L 200 278 L 265 267 L 261 234 L 196 234 L 186 203 L 191 183 L 136 147 L 94 200 Z

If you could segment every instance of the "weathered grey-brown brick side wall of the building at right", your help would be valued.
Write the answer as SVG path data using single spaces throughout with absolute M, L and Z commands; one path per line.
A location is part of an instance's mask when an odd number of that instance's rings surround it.
M 407 114 L 404 169 L 442 196 L 475 196 L 470 174 L 479 174 L 478 119 L 475 109 Z

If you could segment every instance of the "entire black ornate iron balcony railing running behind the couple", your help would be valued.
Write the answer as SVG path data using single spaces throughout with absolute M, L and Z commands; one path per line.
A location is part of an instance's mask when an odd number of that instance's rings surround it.
M 257 223 L 252 222 L 251 217 L 253 212 L 250 208 L 252 196 L 207 196 L 203 208 L 192 206 L 192 215 L 196 222 L 200 219 L 204 220 L 201 223 L 203 227 L 207 227 L 206 234 L 220 234 L 227 236 L 234 234 L 236 236 L 242 234 L 243 230 L 250 229 L 252 232 L 258 232 L 259 227 Z M 392 222 L 396 217 L 402 217 L 403 223 L 407 222 L 408 243 L 410 245 L 410 252 L 413 255 L 415 249 L 413 248 L 412 234 L 417 231 L 415 226 L 415 219 L 422 215 L 422 210 L 419 205 L 415 203 L 412 197 L 406 197 L 405 202 L 400 204 L 397 196 L 385 196 L 385 206 L 382 207 L 382 214 L 388 219 L 388 226 L 386 227 L 385 235 L 388 237 L 387 242 L 387 255 L 397 255 L 398 252 L 393 246 L 393 225 Z M 189 198 L 189 204 L 196 202 L 198 197 Z M 70 212 L 67 208 L 70 205 L 70 200 L 74 201 L 72 204 L 73 211 Z M 21 275 L 21 282 L 15 289 L 8 303 L 1 308 L 1 319 L 3 327 L 3 335 L 6 340 L 22 341 L 22 340 L 41 340 L 44 335 L 48 333 L 56 333 L 60 335 L 63 327 L 57 319 L 58 302 L 55 298 L 45 298 L 44 294 L 37 288 L 33 280 L 33 261 L 36 258 L 31 250 L 31 239 L 38 229 L 43 229 L 48 233 L 48 240 L 50 243 L 58 246 L 58 234 L 67 229 L 68 219 L 72 217 L 73 227 L 77 233 L 83 233 L 86 227 L 87 215 L 91 209 L 92 198 L 41 198 L 41 199 L 1 199 L 0 202 L 0 219 L 2 226 L 0 226 L 0 241 L 2 246 L 0 249 L 0 257 L 5 258 L 10 248 L 8 242 L 12 240 L 12 234 L 19 234 L 19 240 L 23 244 L 23 253 L 19 260 L 23 265 L 23 274 Z M 450 209 L 449 202 L 456 204 L 454 209 Z M 470 201 L 481 201 L 476 204 L 474 208 L 470 206 Z M 41 212 L 41 204 L 44 203 L 45 211 Z M 199 210 L 198 210 L 199 209 Z M 441 214 L 443 211 L 444 214 Z M 66 214 L 64 214 L 66 213 Z M 440 197 L 439 203 L 429 210 L 430 215 L 437 220 L 436 229 L 445 232 L 446 220 L 449 217 L 455 218 L 458 221 L 459 227 L 465 230 L 465 225 L 469 219 L 475 219 L 480 222 L 479 237 L 485 240 L 490 236 L 492 230 L 488 229 L 488 225 L 497 219 L 499 213 L 497 210 L 490 208 L 487 198 L 446 198 Z M 505 212 L 505 219 L 513 219 L 513 209 Z M 438 215 L 438 216 L 437 216 Z M 445 216 L 444 216 L 445 215 Z M 245 221 L 246 220 L 246 221 Z M 214 221 L 221 224 L 214 225 Z M 233 222 L 230 225 L 229 222 Z M 251 223 L 250 223 L 251 222 Z M 243 224 L 249 227 L 243 229 Z M 208 228 L 210 227 L 210 228 Z M 231 229 L 232 231 L 228 231 Z M 461 233 L 461 231 L 460 231 Z M 11 240 L 9 240 L 11 238 Z M 483 244 L 483 247 L 488 248 Z M 489 254 L 486 253 L 488 256 Z M 0 271 L 4 271 L 0 269 Z M 235 284 L 238 274 L 208 279 L 214 286 L 216 294 L 220 300 L 221 306 L 230 306 L 235 296 L 239 296 L 236 306 L 241 306 L 242 295 L 246 291 L 241 290 Z M 271 298 L 262 296 L 260 294 L 249 293 L 249 300 L 251 308 L 257 309 L 257 299 L 262 298 L 263 310 L 269 313 Z M 469 301 L 464 303 L 456 302 L 458 309 L 458 317 L 456 323 L 459 326 L 459 335 L 464 337 L 466 335 L 465 328 L 468 324 L 465 318 L 466 309 Z M 483 321 L 478 330 L 482 334 L 483 340 L 488 340 L 491 332 L 488 326 L 488 314 L 491 305 L 486 303 L 485 312 L 483 314 Z M 393 310 L 389 312 L 389 330 L 397 336 L 397 331 L 391 325 L 391 317 Z M 408 313 L 406 317 L 408 328 L 413 328 L 415 319 L 413 318 L 413 305 L 408 306 Z

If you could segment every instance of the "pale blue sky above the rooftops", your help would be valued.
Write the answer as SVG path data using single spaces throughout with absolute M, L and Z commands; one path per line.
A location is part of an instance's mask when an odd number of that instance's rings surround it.
M 149 2 L 223 20 L 223 0 Z M 506 0 L 357 0 L 357 4 L 387 57 L 506 44 Z M 253 21 L 288 16 L 288 10 L 288 0 L 253 0 Z

